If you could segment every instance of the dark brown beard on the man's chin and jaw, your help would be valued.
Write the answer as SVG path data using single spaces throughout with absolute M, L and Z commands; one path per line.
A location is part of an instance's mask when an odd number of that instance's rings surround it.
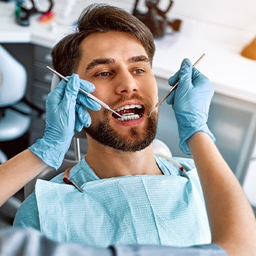
M 124 152 L 135 152 L 144 150 L 156 137 L 158 112 L 151 113 L 144 132 L 140 132 L 137 127 L 130 127 L 130 137 L 123 136 L 112 129 L 109 125 L 108 114 L 109 111 L 105 110 L 102 121 L 93 122 L 94 125 L 91 124 L 88 128 L 84 128 L 85 132 L 100 144 Z

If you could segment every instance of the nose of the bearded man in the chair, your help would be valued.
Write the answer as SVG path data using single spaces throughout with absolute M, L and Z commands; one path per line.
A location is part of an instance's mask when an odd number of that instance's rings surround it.
M 116 76 L 116 94 L 132 94 L 137 92 L 139 87 L 130 71 L 122 71 Z

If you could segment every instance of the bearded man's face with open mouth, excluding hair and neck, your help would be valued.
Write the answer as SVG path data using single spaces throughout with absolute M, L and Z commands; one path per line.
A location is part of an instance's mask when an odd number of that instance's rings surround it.
M 119 118 L 103 108 L 88 110 L 92 124 L 86 133 L 117 150 L 144 149 L 154 140 L 158 116 L 144 116 L 157 103 L 157 84 L 144 47 L 130 33 L 109 31 L 87 36 L 81 49 L 77 72 L 95 85 L 93 95 L 121 116 L 131 113 Z

